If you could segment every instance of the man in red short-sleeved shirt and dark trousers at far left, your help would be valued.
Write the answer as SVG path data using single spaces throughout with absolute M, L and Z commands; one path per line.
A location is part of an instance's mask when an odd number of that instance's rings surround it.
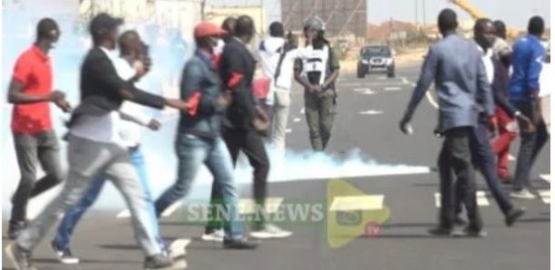
M 63 179 L 60 147 L 52 127 L 49 104 L 54 102 L 63 111 L 71 111 L 65 94 L 52 89 L 52 65 L 48 52 L 59 37 L 56 22 L 50 18 L 42 19 L 37 25 L 35 43 L 15 63 L 9 86 L 7 100 L 14 104 L 12 131 L 21 173 L 12 198 L 14 206 L 8 227 L 10 239 L 15 239 L 25 227 L 29 198 L 54 187 Z M 37 159 L 45 176 L 35 182 Z

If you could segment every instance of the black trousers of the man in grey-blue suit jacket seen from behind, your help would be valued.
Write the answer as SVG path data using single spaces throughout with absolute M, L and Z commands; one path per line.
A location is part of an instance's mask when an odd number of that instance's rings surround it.
M 445 140 L 438 159 L 442 207 L 440 227 L 453 228 L 455 214 L 455 187 L 462 195 L 468 214 L 469 228 L 482 229 L 482 217 L 476 202 L 476 179 L 472 167 L 470 143 L 472 127 L 453 128 L 444 132 Z M 454 176 L 454 181 L 453 181 Z

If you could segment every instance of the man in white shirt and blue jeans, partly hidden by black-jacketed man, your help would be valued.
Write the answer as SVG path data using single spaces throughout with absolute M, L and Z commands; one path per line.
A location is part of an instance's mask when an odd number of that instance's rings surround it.
M 116 72 L 123 80 L 138 81 L 141 76 L 145 74 L 144 67 L 139 61 L 139 57 L 141 56 L 141 52 L 139 52 L 141 46 L 139 46 L 139 44 L 141 44 L 139 34 L 134 31 L 127 31 L 119 38 L 121 55 L 119 57 L 112 55 L 111 60 Z M 159 130 L 160 122 L 144 113 L 141 106 L 129 101 L 123 101 L 120 111 L 112 112 L 109 118 L 112 119 L 112 124 L 114 126 L 111 132 L 112 140 L 118 141 L 123 147 L 129 149 L 131 162 L 135 169 L 137 169 L 145 196 L 149 201 L 152 201 L 151 187 L 140 148 L 141 131 L 144 127 L 148 127 L 150 130 Z M 98 134 L 98 132 L 95 133 Z M 81 217 L 83 217 L 84 212 L 91 207 L 100 196 L 106 178 L 104 174 L 95 178 L 81 201 L 66 212 L 63 217 L 58 227 L 57 234 L 52 241 L 54 252 L 61 263 L 68 265 L 79 263 L 79 258 L 74 257 L 70 250 L 73 230 Z M 156 227 L 157 229 L 155 231 L 158 232 L 158 220 L 156 219 L 153 205 L 151 205 L 150 208 L 149 212 L 151 214 L 152 226 Z M 160 236 L 159 242 L 161 242 Z M 165 249 L 162 242 L 161 247 Z

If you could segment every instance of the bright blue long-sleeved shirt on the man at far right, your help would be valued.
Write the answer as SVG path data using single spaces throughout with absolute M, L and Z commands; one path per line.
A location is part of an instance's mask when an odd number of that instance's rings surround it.
M 535 35 L 529 34 L 513 45 L 509 100 L 532 101 L 532 95 L 540 91 L 540 72 L 544 57 L 545 49 Z

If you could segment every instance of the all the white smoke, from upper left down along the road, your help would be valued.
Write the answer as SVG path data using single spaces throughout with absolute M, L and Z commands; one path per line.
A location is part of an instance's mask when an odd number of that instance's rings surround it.
M 28 48 L 34 42 L 34 25 L 45 14 L 52 16 L 58 21 L 62 29 L 62 37 L 57 44 L 57 48 L 52 52 L 54 59 L 54 87 L 65 91 L 69 101 L 76 104 L 79 99 L 78 80 L 79 67 L 82 63 L 84 54 L 90 47 L 90 39 L 86 34 L 86 25 L 79 21 L 77 14 L 61 14 L 58 15 L 56 10 L 48 10 L 44 7 L 40 12 L 21 8 L 21 6 L 5 5 L 3 10 L 3 78 L 6 79 L 3 88 L 7 90 L 7 83 L 11 78 L 13 65 L 16 57 Z M 144 39 L 151 45 L 151 55 L 153 57 L 153 70 L 149 76 L 151 79 L 145 83 L 150 86 L 154 92 L 162 92 L 161 89 L 167 87 L 168 82 L 175 82 L 175 72 L 179 73 L 186 57 L 190 55 L 192 45 L 185 39 L 185 42 L 179 41 L 178 45 L 170 45 L 169 40 L 180 40 L 174 31 L 161 29 L 155 25 L 137 25 L 141 28 L 141 33 L 145 33 Z M 167 38 L 164 38 L 167 37 Z M 171 43 L 171 42 L 170 42 Z M 180 56 L 176 56 L 180 55 Z M 170 78 L 162 78 L 168 72 Z M 11 208 L 10 198 L 13 195 L 17 183 L 19 181 L 19 170 L 15 159 L 15 150 L 9 122 L 11 121 L 12 106 L 5 104 L 5 99 L 0 98 L 3 102 L 2 122 L 5 123 L 0 127 L 2 135 L 2 155 L 0 162 L 5 168 L 2 175 L 2 206 L 3 217 L 9 216 Z M 63 119 L 67 116 L 63 115 L 58 109 L 52 108 L 54 117 L 54 129 L 58 135 L 65 132 Z M 159 117 L 162 115 L 157 114 Z M 173 150 L 173 140 L 176 130 L 175 118 L 164 122 L 164 127 L 159 132 L 147 132 L 144 134 L 143 146 L 144 155 L 151 180 L 152 193 L 155 196 L 170 187 L 175 181 L 177 172 L 177 160 Z M 62 143 L 62 160 L 63 166 L 67 167 L 65 158 L 65 142 Z M 427 173 L 427 167 L 414 167 L 404 165 L 384 165 L 379 164 L 374 159 L 367 159 L 363 154 L 353 149 L 345 157 L 338 157 L 325 153 L 313 153 L 311 151 L 292 151 L 289 150 L 283 155 L 278 151 L 270 150 L 271 171 L 269 176 L 270 182 L 292 181 L 292 180 L 308 180 L 308 179 L 327 179 L 327 178 L 352 178 L 362 176 L 383 176 L 391 174 L 414 174 Z M 41 177 L 41 174 L 38 176 Z M 235 173 L 236 182 L 238 184 L 252 183 L 252 169 L 248 166 L 246 160 L 239 161 L 239 167 Z M 212 177 L 207 169 L 201 169 L 199 175 L 194 181 L 193 188 L 190 191 L 189 198 L 208 198 L 209 186 L 212 183 Z M 34 217 L 40 212 L 48 201 L 55 198 L 61 187 L 53 188 L 43 195 L 34 198 L 29 204 L 29 217 Z M 121 195 L 117 193 L 112 184 L 106 185 L 102 191 L 102 196 L 95 204 L 95 207 L 102 209 L 120 210 L 123 206 Z

